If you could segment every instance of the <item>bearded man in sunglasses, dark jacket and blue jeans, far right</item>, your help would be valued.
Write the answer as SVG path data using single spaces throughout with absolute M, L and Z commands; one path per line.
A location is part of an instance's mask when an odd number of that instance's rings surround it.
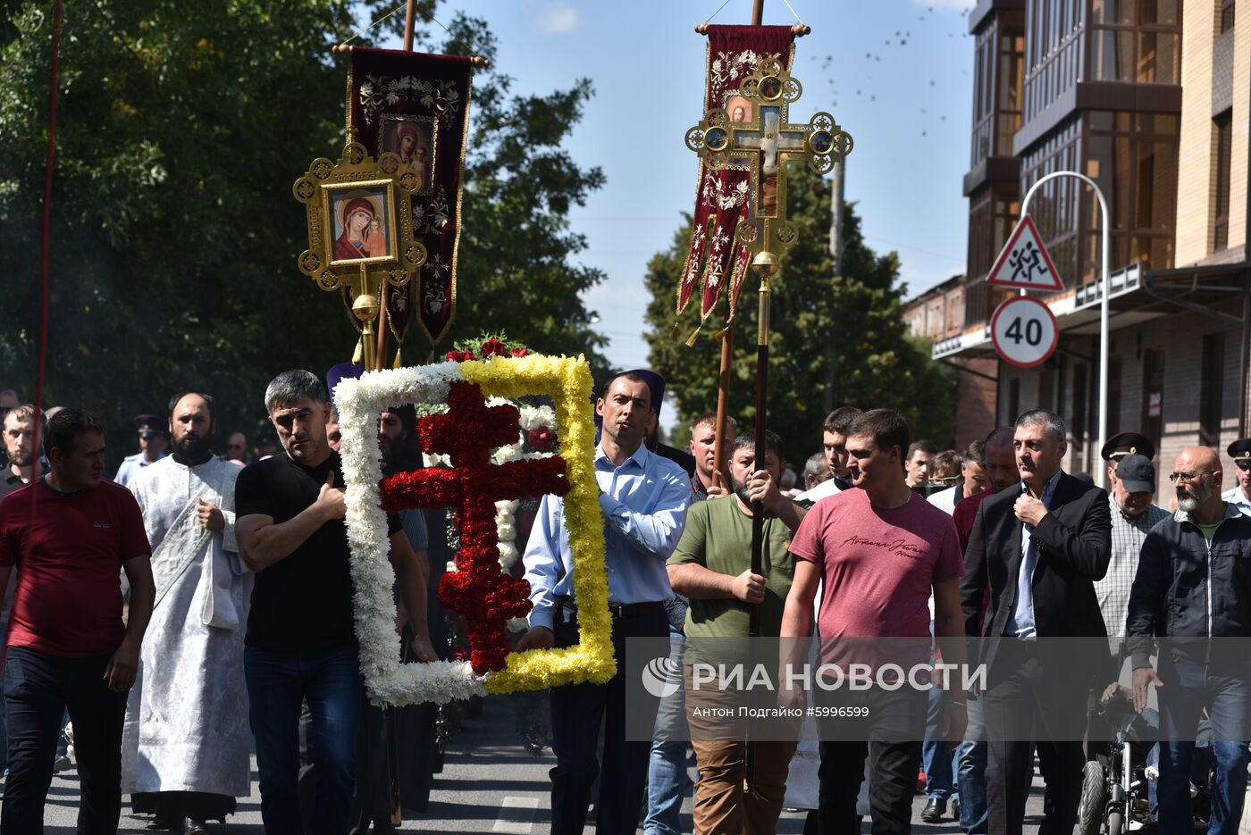
M 1146 706 L 1151 684 L 1160 699 L 1161 832 L 1193 826 L 1190 768 L 1203 710 L 1212 722 L 1216 765 L 1207 831 L 1235 835 L 1242 816 L 1251 688 L 1237 648 L 1245 641 L 1195 640 L 1251 636 L 1251 516 L 1221 499 L 1221 460 L 1206 446 L 1177 456 L 1168 475 L 1177 486 L 1177 512 L 1143 540 L 1130 592 L 1133 706 Z M 1156 641 L 1158 675 L 1150 661 Z M 1222 646 L 1230 644 L 1235 646 Z

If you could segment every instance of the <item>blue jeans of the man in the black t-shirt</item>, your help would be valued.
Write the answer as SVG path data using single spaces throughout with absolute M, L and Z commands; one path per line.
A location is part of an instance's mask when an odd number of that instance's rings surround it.
M 357 648 L 280 652 L 244 650 L 248 710 L 256 738 L 260 816 L 266 835 L 303 835 L 296 779 L 300 701 L 313 716 L 317 801 L 310 831 L 348 831 L 357 770 L 362 680 Z

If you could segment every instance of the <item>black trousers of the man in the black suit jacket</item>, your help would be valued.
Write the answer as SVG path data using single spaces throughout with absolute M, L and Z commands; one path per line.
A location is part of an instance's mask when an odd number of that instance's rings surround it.
M 992 835 L 1022 831 L 1035 748 L 1046 781 L 1038 832 L 1073 831 L 1086 765 L 1081 729 L 1087 691 L 1087 676 L 1055 648 L 1040 650 L 1036 641 L 1002 639 L 991 688 L 983 696 L 986 805 Z

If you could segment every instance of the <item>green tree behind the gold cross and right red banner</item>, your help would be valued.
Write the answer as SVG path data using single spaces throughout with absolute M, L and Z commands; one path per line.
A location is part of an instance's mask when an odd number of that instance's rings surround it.
M 859 218 L 847 206 L 843 275 L 836 276 L 828 246 L 828 184 L 796 165 L 789 174 L 788 210 L 799 236 L 772 281 L 768 426 L 786 441 L 792 464 L 799 465 L 819 449 L 821 424 L 841 405 L 897 409 L 913 438 L 948 444 L 955 382 L 929 360 L 928 344 L 907 335 L 902 318 L 907 288 L 899 282 L 898 258 L 866 246 Z M 718 309 L 696 345 L 683 344 L 699 315 L 698 300 L 681 319 L 673 312 L 689 235 L 688 218 L 647 271 L 651 361 L 669 381 L 683 420 L 717 405 L 721 344 L 712 334 L 724 316 L 724 308 Z M 758 286 L 752 274 L 734 325 L 729 411 L 742 428 L 756 418 Z

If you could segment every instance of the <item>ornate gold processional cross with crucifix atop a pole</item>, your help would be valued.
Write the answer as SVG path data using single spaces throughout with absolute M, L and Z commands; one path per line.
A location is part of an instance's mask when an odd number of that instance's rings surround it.
M 854 145 L 828 112 L 816 114 L 806 125 L 791 124 L 791 105 L 801 95 L 803 85 L 782 61 L 761 61 L 729 99 L 728 110 L 709 110 L 686 136 L 687 148 L 703 156 L 708 169 L 751 170 L 752 216 L 739 222 L 734 238 L 749 246 L 752 265 L 762 275 L 773 274 L 777 250 L 797 236 L 786 215 L 786 162 L 804 160 L 814 172 L 828 174 Z M 752 221 L 763 225 L 763 234 Z

